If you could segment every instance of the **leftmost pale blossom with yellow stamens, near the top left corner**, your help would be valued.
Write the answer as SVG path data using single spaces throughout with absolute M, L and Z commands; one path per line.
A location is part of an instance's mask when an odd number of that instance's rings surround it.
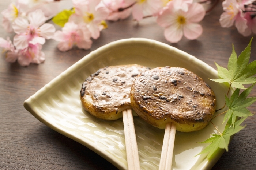
M 12 23 L 18 16 L 20 16 L 20 13 L 19 4 L 15 3 L 11 3 L 7 9 L 1 12 L 3 15 L 2 26 L 6 32 L 11 33 L 13 31 Z

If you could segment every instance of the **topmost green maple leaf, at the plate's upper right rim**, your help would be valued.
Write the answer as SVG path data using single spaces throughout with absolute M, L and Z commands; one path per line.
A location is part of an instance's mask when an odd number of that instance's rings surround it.
M 233 87 L 240 89 L 245 89 L 243 84 L 254 83 L 256 81 L 256 77 L 252 76 L 256 74 L 256 60 L 249 63 L 251 43 L 252 39 L 250 40 L 245 50 L 242 51 L 238 56 L 238 58 L 233 45 L 233 50 L 227 64 L 227 69 L 215 63 L 217 66 L 219 79 L 211 80 L 220 83 L 230 82 Z

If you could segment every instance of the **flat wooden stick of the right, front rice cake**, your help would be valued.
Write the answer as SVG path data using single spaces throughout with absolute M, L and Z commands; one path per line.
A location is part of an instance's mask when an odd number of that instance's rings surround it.
M 175 124 L 172 122 L 167 123 L 165 126 L 165 135 L 163 137 L 163 147 L 159 163 L 159 170 L 169 170 L 172 168 L 175 133 Z

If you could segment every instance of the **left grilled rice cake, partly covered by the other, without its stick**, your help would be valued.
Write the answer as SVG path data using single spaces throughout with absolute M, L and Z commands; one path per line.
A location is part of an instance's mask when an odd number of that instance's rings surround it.
M 82 84 L 80 99 L 83 108 L 97 118 L 116 120 L 121 111 L 131 108 L 133 81 L 149 68 L 138 64 L 109 66 L 91 74 Z

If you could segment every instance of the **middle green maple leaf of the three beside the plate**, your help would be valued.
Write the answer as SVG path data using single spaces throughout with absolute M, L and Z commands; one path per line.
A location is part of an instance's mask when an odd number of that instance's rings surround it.
M 226 119 L 231 119 L 231 124 L 234 126 L 237 117 L 246 118 L 253 115 L 246 107 L 251 106 L 251 104 L 256 101 L 256 97 L 247 98 L 254 85 L 255 83 L 244 90 L 240 95 L 240 89 L 236 89 L 230 99 L 226 96 L 226 105 L 229 110 L 224 116 L 223 122 L 225 122 Z

